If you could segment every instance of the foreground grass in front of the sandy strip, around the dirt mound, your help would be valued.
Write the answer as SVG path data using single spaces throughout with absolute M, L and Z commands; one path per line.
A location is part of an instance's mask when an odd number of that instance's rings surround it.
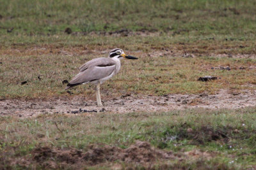
M 191 163 L 192 169 L 200 166 L 203 169 L 214 166 L 248 168 L 256 164 L 255 111 L 255 108 L 217 111 L 201 109 L 122 115 L 93 113 L 78 117 L 1 117 L 1 167 L 10 165 L 8 162 L 14 161 L 14 158 L 31 160 L 33 150 L 42 146 L 61 150 L 76 148 L 86 152 L 92 144 L 127 148 L 135 140 L 141 140 L 177 154 L 200 150 L 211 155 L 209 159 L 195 157 L 195 160 L 168 160 L 164 163 L 171 167 L 189 168 Z M 109 167 L 113 164 L 105 162 L 103 165 Z M 40 164 L 35 162 L 35 167 L 40 167 Z

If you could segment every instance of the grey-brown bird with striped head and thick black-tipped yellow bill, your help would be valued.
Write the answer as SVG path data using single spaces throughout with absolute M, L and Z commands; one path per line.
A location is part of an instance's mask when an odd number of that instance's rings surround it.
M 65 90 L 82 85 L 92 83 L 95 85 L 97 105 L 102 106 L 100 97 L 100 84 L 109 80 L 112 76 L 120 71 L 121 59 L 138 59 L 131 55 L 126 55 L 124 50 L 115 48 L 109 52 L 108 57 L 100 57 L 92 59 L 79 67 L 79 73 L 70 80 Z

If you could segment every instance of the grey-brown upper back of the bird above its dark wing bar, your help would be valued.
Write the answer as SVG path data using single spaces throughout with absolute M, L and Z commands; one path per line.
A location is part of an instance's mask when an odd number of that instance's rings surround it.
M 83 64 L 83 66 L 79 67 L 79 71 L 82 72 L 86 69 L 88 69 L 89 67 L 93 67 L 93 66 L 113 66 L 115 65 L 115 61 L 108 59 L 108 58 L 104 58 L 104 57 L 100 57 L 97 59 L 92 59 L 86 63 Z

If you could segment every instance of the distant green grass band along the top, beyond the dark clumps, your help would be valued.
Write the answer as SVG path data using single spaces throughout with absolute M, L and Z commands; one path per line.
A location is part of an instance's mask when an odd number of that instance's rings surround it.
M 1 1 L 1 28 L 25 34 L 64 31 L 173 31 L 252 34 L 255 1 Z M 239 22 L 237 22 L 239 21 Z M 1 29 L 1 33 L 6 30 Z M 231 32 L 230 32 L 231 31 Z

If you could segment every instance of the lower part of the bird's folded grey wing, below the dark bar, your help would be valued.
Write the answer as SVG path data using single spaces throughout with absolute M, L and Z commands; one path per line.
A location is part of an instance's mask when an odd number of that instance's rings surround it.
M 67 85 L 66 89 L 70 87 L 74 87 L 76 85 L 81 85 L 83 83 L 88 83 L 90 81 L 100 80 L 101 78 L 105 78 L 112 74 L 115 71 L 114 66 L 106 66 L 106 67 L 89 67 L 88 69 L 78 73 Z

